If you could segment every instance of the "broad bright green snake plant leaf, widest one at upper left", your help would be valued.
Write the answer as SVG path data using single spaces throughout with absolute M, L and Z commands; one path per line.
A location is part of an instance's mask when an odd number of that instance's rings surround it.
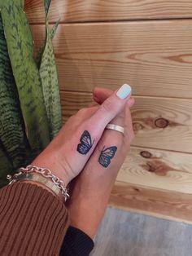
M 37 154 L 50 142 L 50 135 L 41 78 L 33 60 L 32 33 L 23 7 L 23 0 L 6 0 L 2 5 L 2 24 L 28 143 Z

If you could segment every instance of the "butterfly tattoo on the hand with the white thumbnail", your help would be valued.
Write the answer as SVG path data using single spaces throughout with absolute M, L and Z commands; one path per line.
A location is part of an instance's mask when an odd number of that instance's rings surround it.
M 77 145 L 76 150 L 81 153 L 82 155 L 85 155 L 87 152 L 89 152 L 90 148 L 93 146 L 93 143 L 91 142 L 91 137 L 89 134 L 89 131 L 85 130 L 83 134 L 81 135 L 80 142 Z

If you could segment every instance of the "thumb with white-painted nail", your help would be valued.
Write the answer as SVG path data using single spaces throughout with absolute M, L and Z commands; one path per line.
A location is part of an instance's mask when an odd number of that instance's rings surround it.
M 131 86 L 124 84 L 100 105 L 98 110 L 91 117 L 92 121 L 98 126 L 107 126 L 107 124 L 125 107 L 130 97 Z

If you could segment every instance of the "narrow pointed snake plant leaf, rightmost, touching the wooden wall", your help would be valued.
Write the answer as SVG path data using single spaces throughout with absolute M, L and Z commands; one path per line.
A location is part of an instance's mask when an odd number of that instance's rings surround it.
M 51 139 L 55 137 L 62 126 L 59 82 L 52 45 L 52 38 L 57 27 L 58 24 L 55 24 L 52 33 L 50 33 L 48 18 L 46 16 L 46 45 L 42 53 L 39 69 Z

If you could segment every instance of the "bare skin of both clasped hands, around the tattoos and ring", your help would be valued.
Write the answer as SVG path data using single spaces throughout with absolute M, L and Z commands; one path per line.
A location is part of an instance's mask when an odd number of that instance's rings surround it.
M 131 95 L 120 99 L 116 91 L 95 88 L 93 98 L 96 104 L 81 108 L 70 117 L 55 139 L 32 163 L 49 168 L 66 185 L 70 183 L 71 198 L 67 207 L 71 225 L 92 238 L 103 218 L 111 188 L 134 137 L 129 110 L 134 104 Z M 115 130 L 105 130 L 109 122 L 123 126 L 124 135 Z M 89 131 L 94 144 L 89 152 L 82 155 L 76 148 L 85 130 Z M 98 162 L 104 146 L 117 147 L 107 168 Z

